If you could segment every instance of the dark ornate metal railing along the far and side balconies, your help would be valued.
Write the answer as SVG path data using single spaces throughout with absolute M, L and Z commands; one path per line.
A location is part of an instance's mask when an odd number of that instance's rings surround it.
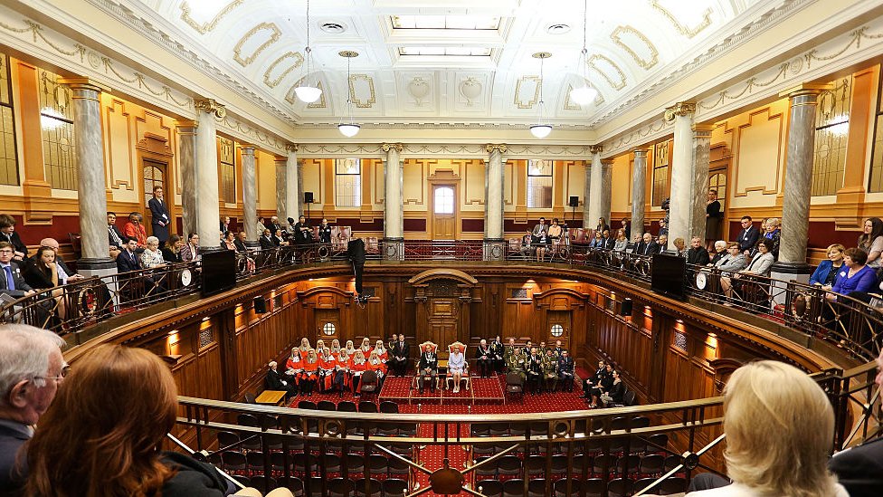
M 594 268 L 650 282 L 652 259 L 646 255 L 595 249 L 577 244 L 528 246 L 502 243 L 491 247 L 500 263 L 554 263 Z M 537 250 L 542 249 L 542 250 Z M 401 261 L 479 262 L 488 250 L 479 241 L 405 241 L 402 244 L 366 244 L 366 259 L 384 263 Z M 496 252 L 494 252 L 496 251 Z M 348 263 L 346 245 L 310 244 L 276 250 L 237 253 L 237 277 L 250 278 L 302 264 Z M 722 279 L 736 282 L 725 296 Z M 800 330 L 807 339 L 822 340 L 863 361 L 878 356 L 883 332 L 883 308 L 798 282 L 742 275 L 738 278 L 717 268 L 688 266 L 686 292 L 702 301 L 713 301 L 761 315 Z M 119 313 L 200 292 L 199 263 L 169 264 L 134 273 L 90 278 L 39 292 L 0 307 L 3 322 L 26 322 L 64 334 Z

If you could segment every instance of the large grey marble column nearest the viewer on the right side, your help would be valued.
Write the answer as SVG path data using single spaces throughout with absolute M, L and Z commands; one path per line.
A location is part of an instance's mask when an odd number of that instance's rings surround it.
M 782 238 L 774 272 L 809 274 L 812 269 L 806 263 L 806 244 L 810 231 L 815 113 L 818 96 L 826 87 L 804 84 L 782 95 L 791 100 L 791 119 L 785 162 Z

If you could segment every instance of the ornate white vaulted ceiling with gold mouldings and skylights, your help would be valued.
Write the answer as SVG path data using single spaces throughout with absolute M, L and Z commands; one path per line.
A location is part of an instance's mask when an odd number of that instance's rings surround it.
M 362 123 L 528 124 L 540 81 L 531 54 L 549 52 L 546 113 L 558 126 L 590 127 L 785 1 L 590 0 L 586 75 L 599 96 L 585 107 L 569 98 L 581 79 L 583 0 L 311 0 L 309 78 L 324 93 L 310 105 L 293 94 L 306 70 L 306 0 L 122 3 L 301 125 L 337 124 L 347 93 Z M 394 27 L 420 22 L 498 27 Z M 562 24 L 569 31 L 550 29 Z M 349 81 L 342 50 L 360 53 Z M 414 52 L 478 55 L 403 54 Z

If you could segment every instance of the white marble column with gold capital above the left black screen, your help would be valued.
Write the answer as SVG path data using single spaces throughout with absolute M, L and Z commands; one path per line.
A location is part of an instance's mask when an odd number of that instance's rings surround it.
M 214 100 L 195 100 L 197 111 L 196 127 L 196 228 L 199 234 L 200 250 L 221 250 L 220 223 L 221 210 L 218 204 L 218 144 L 215 118 L 223 118 L 227 110 Z

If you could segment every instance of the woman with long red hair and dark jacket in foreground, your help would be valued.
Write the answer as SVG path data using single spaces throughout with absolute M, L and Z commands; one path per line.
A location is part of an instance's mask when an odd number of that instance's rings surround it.
M 107 402 L 108 392 L 113 402 Z M 59 387 L 43 415 L 45 423 L 28 444 L 25 494 L 222 497 L 232 492 L 233 485 L 212 465 L 158 450 L 175 425 L 177 406 L 175 379 L 153 353 L 120 345 L 90 350 Z

